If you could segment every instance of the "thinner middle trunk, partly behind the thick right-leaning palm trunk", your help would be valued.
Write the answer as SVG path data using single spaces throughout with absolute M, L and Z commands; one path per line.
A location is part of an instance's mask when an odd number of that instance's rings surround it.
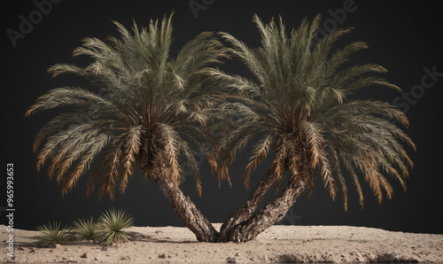
M 261 201 L 265 197 L 267 191 L 275 182 L 274 178 L 269 173 L 265 175 L 257 186 L 253 189 L 249 198 L 246 200 L 245 204 L 238 208 L 238 210 L 229 216 L 229 218 L 224 221 L 220 229 L 219 242 L 226 242 L 228 234 L 235 228 L 239 223 L 246 221 L 253 215 L 253 212 L 260 205 Z

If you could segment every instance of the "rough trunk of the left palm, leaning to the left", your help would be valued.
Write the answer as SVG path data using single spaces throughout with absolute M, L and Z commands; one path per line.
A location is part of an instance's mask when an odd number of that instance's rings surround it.
M 166 176 L 155 177 L 159 188 L 167 195 L 169 203 L 183 223 L 190 229 L 200 242 L 216 242 L 219 233 L 197 207 L 185 197 L 182 190 L 175 189 L 173 182 Z

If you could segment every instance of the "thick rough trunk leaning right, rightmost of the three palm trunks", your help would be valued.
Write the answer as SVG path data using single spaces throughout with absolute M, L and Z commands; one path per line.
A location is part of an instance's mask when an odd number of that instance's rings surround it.
M 299 198 L 300 193 L 306 190 L 306 179 L 306 175 L 291 175 L 284 192 L 276 200 L 261 209 L 259 213 L 233 227 L 225 235 L 225 241 L 250 241 L 276 221 L 282 220 L 296 199 Z

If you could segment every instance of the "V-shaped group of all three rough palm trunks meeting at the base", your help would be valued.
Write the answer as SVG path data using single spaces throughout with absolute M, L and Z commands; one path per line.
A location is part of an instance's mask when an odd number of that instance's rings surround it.
M 272 177 L 266 175 L 260 180 L 244 206 L 223 223 L 220 233 L 207 221 L 190 198 L 184 196 L 182 190 L 175 190 L 173 182 L 168 177 L 159 176 L 153 179 L 160 190 L 167 195 L 172 209 L 180 220 L 195 234 L 199 242 L 246 242 L 253 240 L 263 230 L 284 218 L 299 195 L 306 190 L 307 178 L 307 175 L 291 175 L 280 196 L 253 215 L 274 183 Z

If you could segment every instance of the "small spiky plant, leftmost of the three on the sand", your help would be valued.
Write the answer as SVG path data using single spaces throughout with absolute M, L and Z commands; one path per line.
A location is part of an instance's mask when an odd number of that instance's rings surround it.
M 59 221 L 50 221 L 38 226 L 38 241 L 43 245 L 65 244 L 68 242 L 67 229 L 60 229 L 60 224 Z

